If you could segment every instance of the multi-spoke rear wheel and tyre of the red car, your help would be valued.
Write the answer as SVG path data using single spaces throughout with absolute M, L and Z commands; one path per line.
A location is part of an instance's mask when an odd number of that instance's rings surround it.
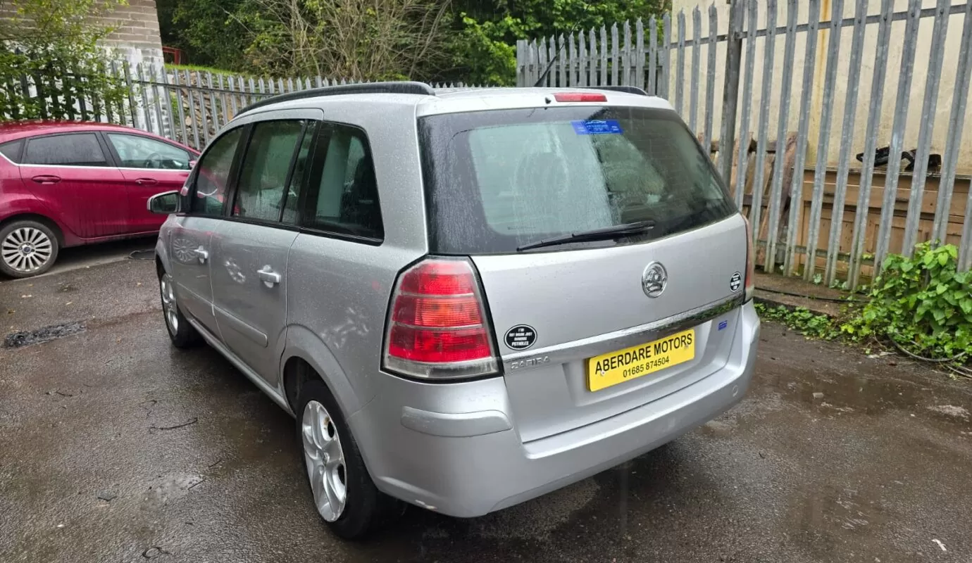
M 11 278 L 39 276 L 57 259 L 57 235 L 48 225 L 16 220 L 0 229 L 0 272 Z

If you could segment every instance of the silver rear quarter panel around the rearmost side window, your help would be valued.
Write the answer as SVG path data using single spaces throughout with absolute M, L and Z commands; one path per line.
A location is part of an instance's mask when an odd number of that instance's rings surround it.
M 385 238 L 380 245 L 301 233 L 287 264 L 287 348 L 308 359 L 347 417 L 376 393 L 388 300 L 399 270 L 428 251 L 415 98 L 321 104 L 326 122 L 364 129 Z M 336 98 L 336 97 L 335 97 Z M 319 182 L 311 179 L 310 185 Z

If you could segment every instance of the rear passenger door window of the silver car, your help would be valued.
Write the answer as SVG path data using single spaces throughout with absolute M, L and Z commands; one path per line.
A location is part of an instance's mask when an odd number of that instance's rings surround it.
M 303 121 L 261 121 L 243 156 L 233 216 L 277 221 Z

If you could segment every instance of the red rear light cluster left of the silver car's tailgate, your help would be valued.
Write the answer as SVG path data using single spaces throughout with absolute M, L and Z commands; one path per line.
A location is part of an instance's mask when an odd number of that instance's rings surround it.
M 469 260 L 428 258 L 395 285 L 383 367 L 423 379 L 496 374 L 492 332 Z

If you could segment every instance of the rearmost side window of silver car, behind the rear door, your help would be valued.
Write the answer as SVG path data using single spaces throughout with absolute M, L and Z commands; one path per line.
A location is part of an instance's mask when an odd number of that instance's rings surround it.
M 385 231 L 367 137 L 356 127 L 329 127 L 324 167 L 320 181 L 308 186 L 302 226 L 381 240 Z

